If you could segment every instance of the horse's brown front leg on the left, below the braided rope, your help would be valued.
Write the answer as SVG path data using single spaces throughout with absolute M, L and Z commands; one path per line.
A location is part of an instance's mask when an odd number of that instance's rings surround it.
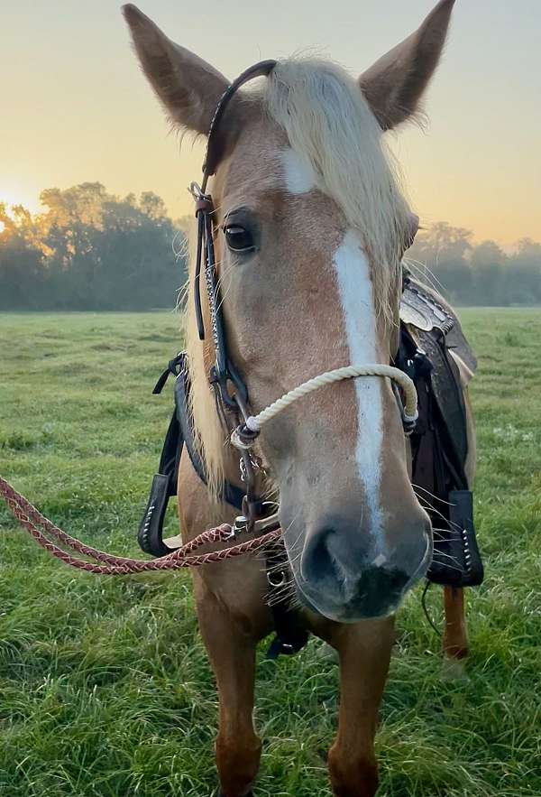
M 219 794 L 245 797 L 252 794 L 261 757 L 261 741 L 252 721 L 257 642 L 206 588 L 197 589 L 197 616 L 218 689 Z

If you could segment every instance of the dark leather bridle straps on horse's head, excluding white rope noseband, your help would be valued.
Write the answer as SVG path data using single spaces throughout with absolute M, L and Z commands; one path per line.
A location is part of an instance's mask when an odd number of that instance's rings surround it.
M 263 504 L 261 498 L 255 492 L 256 470 L 259 466 L 249 450 L 258 436 L 259 430 L 251 425 L 251 422 L 255 419 L 253 419 L 249 411 L 248 390 L 227 350 L 220 280 L 215 262 L 213 237 L 215 206 L 210 193 L 207 191 L 207 183 L 208 179 L 215 174 L 223 154 L 223 142 L 220 140 L 219 133 L 220 123 L 225 115 L 227 106 L 239 88 L 254 78 L 268 77 L 276 65 L 276 60 L 262 60 L 245 70 L 225 89 L 215 108 L 208 131 L 206 158 L 203 164 L 203 180 L 200 186 L 197 182 L 192 182 L 189 187 L 190 193 L 196 200 L 197 255 L 193 289 L 197 330 L 199 338 L 204 340 L 206 338 L 206 329 L 201 303 L 201 273 L 204 272 L 215 347 L 215 363 L 210 369 L 209 383 L 215 391 L 216 410 L 220 419 L 229 433 L 234 432 L 232 440 L 241 453 L 241 476 L 246 487 L 246 495 L 243 500 L 243 519 L 246 522 L 244 528 L 247 527 L 248 530 L 254 528 L 256 521 L 261 518 L 261 515 L 265 514 L 266 510 L 266 505 Z M 395 380 L 398 371 L 406 373 L 406 368 L 403 366 L 399 366 L 399 369 L 389 367 L 388 370 L 395 372 Z M 390 375 L 393 378 L 392 374 L 380 375 Z M 342 376 L 340 378 L 346 377 Z M 410 382 L 411 380 L 408 381 Z M 417 420 L 417 413 L 407 415 L 401 403 L 396 384 L 393 384 L 393 389 L 401 406 L 404 429 L 406 433 L 410 433 Z M 415 390 L 415 388 L 413 389 Z

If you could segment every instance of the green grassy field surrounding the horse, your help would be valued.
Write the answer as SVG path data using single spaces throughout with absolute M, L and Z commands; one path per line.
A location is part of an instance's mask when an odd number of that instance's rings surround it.
M 377 747 L 387 797 L 541 794 L 540 310 L 463 310 L 476 519 L 485 584 L 469 594 L 472 655 L 442 666 L 417 589 Z M 0 473 L 86 541 L 137 554 L 136 527 L 171 397 L 151 396 L 179 348 L 172 314 L 0 319 Z M 203 797 L 215 786 L 215 690 L 186 575 L 99 579 L 50 559 L 0 507 L 2 797 Z M 170 517 L 171 533 L 175 518 Z M 441 623 L 440 590 L 429 593 Z M 336 668 L 312 640 L 263 660 L 258 797 L 329 793 Z

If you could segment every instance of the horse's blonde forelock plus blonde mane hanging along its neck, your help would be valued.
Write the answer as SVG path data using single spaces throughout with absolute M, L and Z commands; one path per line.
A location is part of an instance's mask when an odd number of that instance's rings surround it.
M 261 101 L 288 135 L 292 149 L 316 173 L 317 187 L 335 200 L 348 227 L 362 236 L 372 264 L 376 311 L 390 320 L 396 310 L 393 287 L 407 238 L 408 204 L 398 168 L 358 83 L 328 60 L 282 60 L 266 79 Z M 201 343 L 197 334 L 193 271 L 192 257 L 185 310 L 191 412 L 210 492 L 217 496 L 224 480 L 227 439 L 208 385 L 212 343 Z

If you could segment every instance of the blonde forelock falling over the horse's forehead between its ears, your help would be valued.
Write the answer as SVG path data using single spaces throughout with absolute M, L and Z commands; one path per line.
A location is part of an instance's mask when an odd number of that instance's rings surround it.
M 376 311 L 392 318 L 391 289 L 408 229 L 399 169 L 359 84 L 329 60 L 280 61 L 267 82 L 271 118 L 360 233 L 372 263 Z

